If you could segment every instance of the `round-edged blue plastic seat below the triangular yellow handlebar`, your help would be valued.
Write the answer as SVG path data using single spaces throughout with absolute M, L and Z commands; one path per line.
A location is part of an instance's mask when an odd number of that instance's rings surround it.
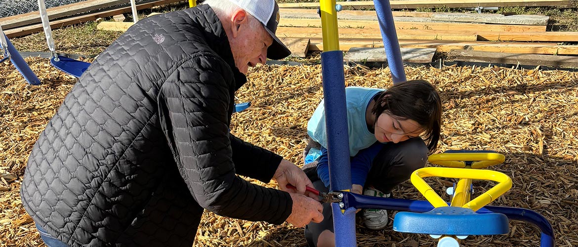
M 510 231 L 502 213 L 476 213 L 461 207 L 439 207 L 425 213 L 398 212 L 393 229 L 433 235 L 495 235 Z

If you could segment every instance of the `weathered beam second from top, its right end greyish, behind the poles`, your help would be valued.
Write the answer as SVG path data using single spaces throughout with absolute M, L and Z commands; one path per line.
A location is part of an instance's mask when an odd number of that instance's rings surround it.
M 281 18 L 320 19 L 316 9 L 282 9 Z M 395 21 L 421 22 L 460 22 L 486 24 L 547 25 L 550 17 L 534 14 L 478 14 L 478 13 L 432 13 L 432 12 L 392 12 Z M 377 21 L 375 11 L 342 10 L 337 14 L 338 20 Z

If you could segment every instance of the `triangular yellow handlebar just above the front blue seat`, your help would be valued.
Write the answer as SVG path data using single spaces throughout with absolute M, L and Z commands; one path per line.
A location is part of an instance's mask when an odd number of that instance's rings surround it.
M 424 181 L 423 178 L 429 176 L 439 176 L 443 178 L 461 178 L 461 179 L 479 179 L 492 180 L 498 182 L 497 185 L 484 192 L 472 201 L 464 204 L 462 207 L 477 211 L 488 203 L 496 200 L 503 193 L 512 187 L 512 179 L 502 172 L 464 169 L 464 168 L 447 168 L 447 167 L 425 167 L 417 169 L 411 176 L 411 181 L 417 190 L 433 205 L 433 207 L 446 207 L 444 201 L 433 189 Z

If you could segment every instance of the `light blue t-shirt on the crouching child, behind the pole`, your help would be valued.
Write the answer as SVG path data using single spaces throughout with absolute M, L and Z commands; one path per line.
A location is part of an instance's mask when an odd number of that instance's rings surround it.
M 367 87 L 346 87 L 347 127 L 349 128 L 349 156 L 353 157 L 361 149 L 369 148 L 377 141 L 375 135 L 367 129 L 365 111 L 369 101 L 384 89 L 369 89 Z M 307 134 L 321 146 L 327 148 L 327 130 L 325 129 L 325 106 L 322 100 L 309 123 Z

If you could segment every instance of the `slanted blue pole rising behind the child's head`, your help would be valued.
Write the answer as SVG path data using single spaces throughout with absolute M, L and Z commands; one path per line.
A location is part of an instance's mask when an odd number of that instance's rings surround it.
M 389 0 L 373 0 L 377 20 L 381 30 L 381 39 L 386 49 L 387 65 L 390 67 L 391 77 L 395 83 L 405 82 L 405 71 L 403 71 L 403 61 L 399 50 L 397 32 L 395 32 L 394 16 L 391 13 Z

